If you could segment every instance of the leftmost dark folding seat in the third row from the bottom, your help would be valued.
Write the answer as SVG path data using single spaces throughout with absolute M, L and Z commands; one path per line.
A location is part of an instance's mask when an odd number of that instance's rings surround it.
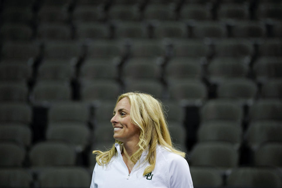
M 24 147 L 29 147 L 32 140 L 31 129 L 22 125 L 0 125 L 0 140 L 16 142 Z

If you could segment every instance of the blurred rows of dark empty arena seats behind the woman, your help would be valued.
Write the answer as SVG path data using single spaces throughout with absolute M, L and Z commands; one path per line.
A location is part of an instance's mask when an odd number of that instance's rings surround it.
M 194 187 L 282 187 L 281 0 L 0 7 L 0 187 L 89 187 L 136 90 L 162 100 Z

